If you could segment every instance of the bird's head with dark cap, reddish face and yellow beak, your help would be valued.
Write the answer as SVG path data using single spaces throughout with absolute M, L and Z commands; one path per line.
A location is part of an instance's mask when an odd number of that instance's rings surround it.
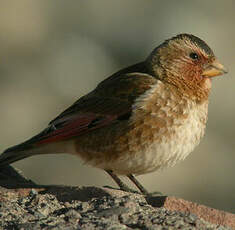
M 198 102 L 207 100 L 211 78 L 226 73 L 211 48 L 190 34 L 166 40 L 153 50 L 147 65 L 153 76 Z

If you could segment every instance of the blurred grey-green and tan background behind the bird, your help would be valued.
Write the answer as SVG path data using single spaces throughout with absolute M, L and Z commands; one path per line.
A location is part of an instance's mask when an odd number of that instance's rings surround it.
M 0 152 L 37 134 L 58 113 L 164 39 L 192 33 L 229 69 L 213 81 L 209 122 L 184 162 L 140 176 L 150 191 L 235 212 L 235 1 L 2 1 Z M 116 186 L 70 155 L 14 164 L 40 184 Z

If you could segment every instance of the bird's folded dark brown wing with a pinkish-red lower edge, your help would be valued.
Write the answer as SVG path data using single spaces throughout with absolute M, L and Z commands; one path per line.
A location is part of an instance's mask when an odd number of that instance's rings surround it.
M 101 82 L 88 95 L 49 123 L 47 130 L 33 140 L 38 144 L 62 141 L 113 122 L 128 119 L 132 104 L 156 83 L 156 79 L 143 73 L 119 75 Z

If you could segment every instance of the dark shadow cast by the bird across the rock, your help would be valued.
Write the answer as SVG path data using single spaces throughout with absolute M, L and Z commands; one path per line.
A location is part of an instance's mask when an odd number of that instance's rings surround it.
M 111 197 L 115 192 L 120 192 L 119 189 L 112 187 L 98 188 L 76 187 L 64 185 L 38 185 L 32 180 L 25 178 L 22 173 L 12 166 L 4 166 L 0 168 L 0 189 L 9 190 L 25 190 L 23 194 L 29 194 L 32 189 L 38 191 L 39 194 L 54 195 L 60 202 L 72 202 L 78 200 L 82 202 L 89 201 L 94 198 Z M 153 207 L 163 207 L 166 196 L 149 195 L 145 196 L 145 200 Z

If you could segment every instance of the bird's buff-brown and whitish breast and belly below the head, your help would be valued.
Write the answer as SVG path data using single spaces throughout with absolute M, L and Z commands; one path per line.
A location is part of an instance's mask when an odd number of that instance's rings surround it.
M 207 107 L 207 101 L 196 104 L 162 83 L 154 85 L 136 100 L 129 121 L 94 134 L 95 142 L 90 138 L 96 146 L 83 148 L 84 159 L 117 174 L 144 174 L 173 166 L 199 144 Z

